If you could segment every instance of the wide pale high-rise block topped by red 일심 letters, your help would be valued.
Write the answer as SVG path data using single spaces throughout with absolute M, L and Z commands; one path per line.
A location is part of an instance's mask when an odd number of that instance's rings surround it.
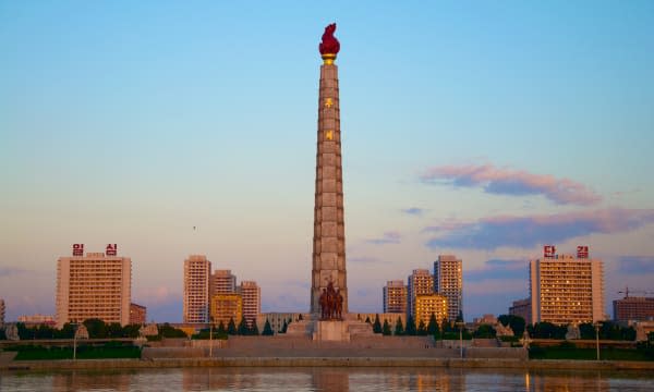
M 117 255 L 116 245 L 107 253 L 83 255 L 83 245 L 73 247 L 73 257 L 57 261 L 57 327 L 98 318 L 107 323 L 130 323 L 132 260 Z

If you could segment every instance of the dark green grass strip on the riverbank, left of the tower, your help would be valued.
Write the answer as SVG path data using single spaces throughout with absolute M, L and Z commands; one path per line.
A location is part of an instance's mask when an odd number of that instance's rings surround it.
M 16 346 L 14 360 L 72 359 L 73 347 Z M 131 345 L 77 346 L 77 359 L 140 358 L 141 348 Z

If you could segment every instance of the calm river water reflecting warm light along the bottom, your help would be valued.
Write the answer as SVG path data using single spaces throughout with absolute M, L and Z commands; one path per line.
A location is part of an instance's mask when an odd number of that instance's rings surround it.
M 0 391 L 654 391 L 654 375 L 449 368 L 174 368 L 0 373 Z

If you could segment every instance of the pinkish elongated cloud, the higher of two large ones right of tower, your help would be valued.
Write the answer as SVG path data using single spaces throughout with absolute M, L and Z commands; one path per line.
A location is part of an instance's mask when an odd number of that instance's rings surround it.
M 559 205 L 589 206 L 602 200 L 595 192 L 569 179 L 496 168 L 493 164 L 434 167 L 427 169 L 420 180 L 427 184 L 439 183 L 440 180 L 457 187 L 480 186 L 484 192 L 496 195 L 543 195 Z

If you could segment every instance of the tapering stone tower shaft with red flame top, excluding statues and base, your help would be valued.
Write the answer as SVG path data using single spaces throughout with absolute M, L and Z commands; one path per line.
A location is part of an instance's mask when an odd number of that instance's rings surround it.
M 334 63 L 340 44 L 334 37 L 336 24 L 325 28 L 319 51 L 320 89 L 318 99 L 318 143 L 316 154 L 316 194 L 314 207 L 313 269 L 311 313 L 320 314 L 318 299 L 331 282 L 343 297 L 348 313 L 346 272 L 346 232 L 343 221 L 343 180 L 338 94 L 338 66 Z

